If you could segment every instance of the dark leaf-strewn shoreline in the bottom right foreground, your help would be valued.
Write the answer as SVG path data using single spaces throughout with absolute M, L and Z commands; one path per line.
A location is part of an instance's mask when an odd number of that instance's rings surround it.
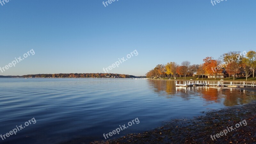
M 127 134 L 107 141 L 94 141 L 91 144 L 128 143 L 256 143 L 256 100 L 246 105 L 211 110 L 203 116 L 173 119 L 160 127 L 143 133 Z M 211 135 L 223 132 L 226 127 L 246 120 L 246 125 L 212 140 Z

